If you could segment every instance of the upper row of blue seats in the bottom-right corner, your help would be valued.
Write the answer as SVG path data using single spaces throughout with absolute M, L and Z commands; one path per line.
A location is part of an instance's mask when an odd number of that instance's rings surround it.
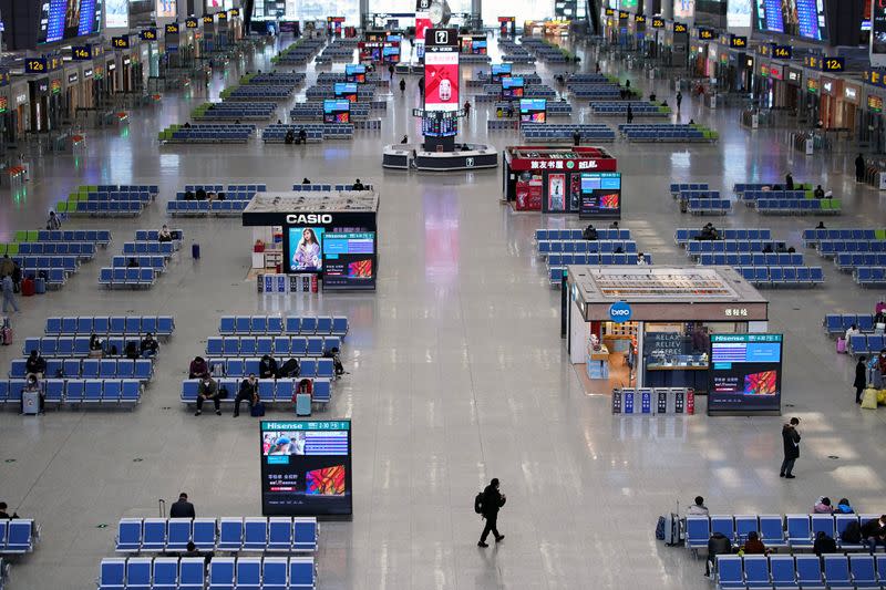
M 686 547 L 698 550 L 708 547 L 713 532 L 722 532 L 732 542 L 744 542 L 748 534 L 756 531 L 767 547 L 812 549 L 815 537 L 823 531 L 837 541 L 843 550 L 857 550 L 863 546 L 846 544 L 841 535 L 851 522 L 863 525 L 880 515 L 856 514 L 796 514 L 796 515 L 711 515 L 686 518 Z

